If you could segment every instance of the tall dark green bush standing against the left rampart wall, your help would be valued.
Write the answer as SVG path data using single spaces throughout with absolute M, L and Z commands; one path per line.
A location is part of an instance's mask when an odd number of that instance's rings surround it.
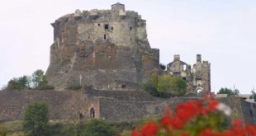
M 26 106 L 23 117 L 23 128 L 28 135 L 46 135 L 49 120 L 48 106 L 44 102 L 36 102 Z

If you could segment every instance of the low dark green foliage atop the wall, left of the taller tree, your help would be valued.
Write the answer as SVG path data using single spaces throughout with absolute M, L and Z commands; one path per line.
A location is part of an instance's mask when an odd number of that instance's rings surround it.
M 7 90 L 22 90 L 29 88 L 29 77 L 23 76 L 18 78 L 13 78 L 7 84 Z

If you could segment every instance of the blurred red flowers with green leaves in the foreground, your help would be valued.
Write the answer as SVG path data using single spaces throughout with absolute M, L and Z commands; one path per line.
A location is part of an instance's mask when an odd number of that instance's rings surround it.
M 224 129 L 225 115 L 230 115 L 229 106 L 212 98 L 191 100 L 179 104 L 173 113 L 167 106 L 159 122 L 149 121 L 132 131 L 132 136 L 254 136 L 256 125 L 233 121 L 230 129 Z

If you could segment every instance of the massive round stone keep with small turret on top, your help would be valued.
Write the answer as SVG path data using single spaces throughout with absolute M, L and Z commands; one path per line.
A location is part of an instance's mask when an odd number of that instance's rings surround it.
M 54 44 L 46 77 L 57 89 L 135 89 L 159 68 L 159 49 L 149 46 L 146 21 L 121 3 L 111 10 L 77 10 L 51 25 Z

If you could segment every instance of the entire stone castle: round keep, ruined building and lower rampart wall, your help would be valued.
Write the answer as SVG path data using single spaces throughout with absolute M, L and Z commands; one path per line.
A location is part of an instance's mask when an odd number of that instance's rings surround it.
M 193 68 L 176 54 L 167 70 L 160 70 L 159 49 L 149 46 L 145 20 L 121 3 L 111 10 L 77 10 L 51 25 L 54 43 L 46 77 L 60 91 L 2 91 L 0 120 L 21 120 L 26 105 L 35 101 L 49 105 L 52 120 L 136 120 L 159 115 L 167 105 L 199 99 L 198 92 L 211 92 L 211 65 L 200 54 Z M 141 91 L 139 83 L 152 73 L 182 77 L 188 93 L 158 98 Z M 83 89 L 65 90 L 71 86 Z M 256 122 L 254 103 L 238 97 L 218 100 L 235 111 L 232 120 Z

